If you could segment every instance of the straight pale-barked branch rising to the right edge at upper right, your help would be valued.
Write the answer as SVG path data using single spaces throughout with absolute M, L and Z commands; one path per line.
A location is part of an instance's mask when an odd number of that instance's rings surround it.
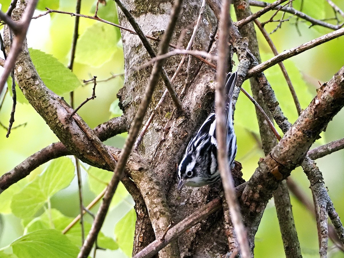
M 255 74 L 263 72 L 266 69 L 270 68 L 271 66 L 273 66 L 273 65 L 275 65 L 275 64 L 277 64 L 283 60 L 286 60 L 292 56 L 298 55 L 298 54 L 300 54 L 306 50 L 309 50 L 315 46 L 318 46 L 318 45 L 323 44 L 327 41 L 333 40 L 333 39 L 340 37 L 342 35 L 344 35 L 344 28 L 330 32 L 326 35 L 318 37 L 317 39 L 311 40 L 311 41 L 304 43 L 300 46 L 297 46 L 297 47 L 294 47 L 292 49 L 283 51 L 282 53 L 272 57 L 268 61 L 265 61 L 259 65 L 256 65 L 255 67 L 249 69 L 247 72 L 246 78 L 250 78 L 250 77 L 254 76 Z

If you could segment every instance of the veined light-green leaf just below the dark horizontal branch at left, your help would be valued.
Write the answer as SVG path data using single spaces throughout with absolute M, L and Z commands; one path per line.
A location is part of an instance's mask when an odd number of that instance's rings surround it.
M 63 157 L 53 160 L 41 175 L 13 196 L 13 214 L 20 218 L 34 216 L 52 195 L 66 188 L 74 176 L 71 159 Z

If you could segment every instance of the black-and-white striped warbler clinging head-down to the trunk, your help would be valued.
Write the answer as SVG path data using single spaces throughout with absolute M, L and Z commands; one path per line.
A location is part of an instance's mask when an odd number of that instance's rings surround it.
M 234 158 L 237 151 L 236 136 L 233 128 L 232 97 L 237 79 L 237 72 L 226 76 L 226 127 L 228 161 L 231 169 L 234 168 Z M 200 187 L 212 184 L 219 180 L 220 173 L 217 166 L 217 140 L 216 140 L 216 114 L 215 109 L 204 121 L 196 135 L 187 145 L 184 157 L 178 166 L 178 189 L 184 185 Z

